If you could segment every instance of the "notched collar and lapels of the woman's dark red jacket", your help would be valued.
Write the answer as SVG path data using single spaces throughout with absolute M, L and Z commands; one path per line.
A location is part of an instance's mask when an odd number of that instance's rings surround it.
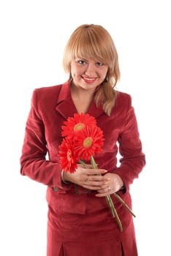
M 61 90 L 58 95 L 58 105 L 56 106 L 56 110 L 61 113 L 61 115 L 64 116 L 64 118 L 66 119 L 69 116 L 73 116 L 74 113 L 77 113 L 77 109 L 75 108 L 74 102 L 72 101 L 71 97 L 69 80 L 61 86 Z M 102 107 L 96 108 L 95 103 L 91 102 L 87 113 L 91 116 L 94 116 L 94 118 L 97 118 L 104 113 L 104 110 L 102 109 Z

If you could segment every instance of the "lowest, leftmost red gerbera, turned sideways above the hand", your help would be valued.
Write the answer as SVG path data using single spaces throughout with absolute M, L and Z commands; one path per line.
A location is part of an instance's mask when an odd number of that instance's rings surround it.
M 73 148 L 72 140 L 64 139 L 59 146 L 59 162 L 61 170 L 74 173 L 77 168 L 77 157 Z

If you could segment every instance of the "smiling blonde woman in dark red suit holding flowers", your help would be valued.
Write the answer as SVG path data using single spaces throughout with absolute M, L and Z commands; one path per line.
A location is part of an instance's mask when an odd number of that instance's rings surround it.
M 113 193 L 132 207 L 129 185 L 145 166 L 145 155 L 131 96 L 115 90 L 118 54 L 107 30 L 79 26 L 66 44 L 64 69 L 66 83 L 34 90 L 20 157 L 21 174 L 47 185 L 47 256 L 136 256 L 132 214 Z M 103 150 L 95 157 L 99 169 L 79 164 L 74 173 L 61 170 L 61 126 L 75 113 L 94 116 L 103 131 Z

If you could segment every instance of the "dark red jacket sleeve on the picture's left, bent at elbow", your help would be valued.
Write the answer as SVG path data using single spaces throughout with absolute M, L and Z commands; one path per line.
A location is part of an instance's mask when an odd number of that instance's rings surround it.
M 50 187 L 69 189 L 69 186 L 61 182 L 61 170 L 58 162 L 51 162 L 47 159 L 45 125 L 39 105 L 36 89 L 31 98 L 31 110 L 26 121 L 20 157 L 20 173 Z

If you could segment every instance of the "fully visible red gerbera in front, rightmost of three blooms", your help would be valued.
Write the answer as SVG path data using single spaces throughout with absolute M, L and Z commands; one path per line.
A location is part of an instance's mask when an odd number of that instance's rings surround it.
M 90 159 L 95 153 L 102 152 L 103 132 L 99 127 L 86 126 L 75 136 L 75 154 L 79 159 Z

